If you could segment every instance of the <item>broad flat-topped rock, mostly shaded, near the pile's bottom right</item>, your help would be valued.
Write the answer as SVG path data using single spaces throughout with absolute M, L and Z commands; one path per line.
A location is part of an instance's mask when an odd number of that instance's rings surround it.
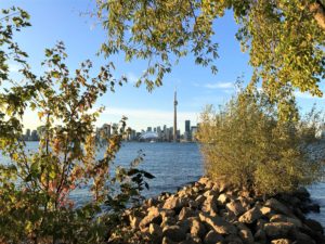
M 270 222 L 265 223 L 264 231 L 271 239 L 283 239 L 289 236 L 296 227 L 290 222 Z

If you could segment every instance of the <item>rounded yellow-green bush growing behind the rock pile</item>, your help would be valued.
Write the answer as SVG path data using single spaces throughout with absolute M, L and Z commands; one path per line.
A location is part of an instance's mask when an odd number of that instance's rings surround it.
M 304 145 L 318 117 L 302 120 L 294 100 L 286 105 L 291 113 L 283 121 L 276 104 L 255 89 L 240 90 L 218 112 L 207 106 L 197 134 L 206 174 L 256 194 L 289 192 L 317 181 L 322 162 L 310 160 Z

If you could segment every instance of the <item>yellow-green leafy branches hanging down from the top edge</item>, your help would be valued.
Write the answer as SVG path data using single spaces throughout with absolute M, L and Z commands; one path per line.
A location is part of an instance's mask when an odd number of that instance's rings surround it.
M 101 50 L 107 56 L 122 51 L 126 61 L 147 60 L 138 85 L 145 82 L 148 89 L 160 86 L 172 61 L 188 53 L 214 73 L 213 21 L 227 10 L 239 26 L 236 38 L 250 55 L 251 84 L 262 81 L 274 100 L 297 88 L 322 95 L 323 0 L 98 0 L 98 15 L 107 30 Z

